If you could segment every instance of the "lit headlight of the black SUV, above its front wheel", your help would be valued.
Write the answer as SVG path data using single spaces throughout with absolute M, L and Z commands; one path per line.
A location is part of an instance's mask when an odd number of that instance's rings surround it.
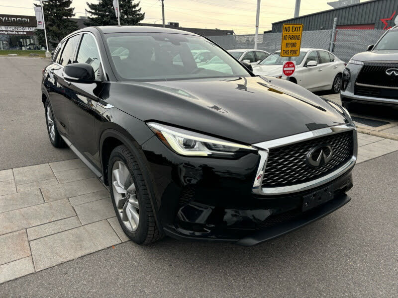
M 257 150 L 251 146 L 223 141 L 164 124 L 150 122 L 147 125 L 160 141 L 181 155 L 236 157 Z

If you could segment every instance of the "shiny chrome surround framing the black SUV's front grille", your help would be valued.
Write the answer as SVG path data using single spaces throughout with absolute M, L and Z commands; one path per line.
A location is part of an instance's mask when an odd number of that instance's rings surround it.
M 353 151 L 353 156 L 352 158 L 345 163 L 343 166 L 338 168 L 337 170 L 320 177 L 318 179 L 300 183 L 300 184 L 295 184 L 295 185 L 289 185 L 289 186 L 281 186 L 281 187 L 261 187 L 263 184 L 263 178 L 264 178 L 264 173 L 267 167 L 267 159 L 269 155 L 269 150 L 273 148 L 278 148 L 282 146 L 287 146 L 299 142 L 303 142 L 306 140 L 311 140 L 319 137 L 324 137 L 328 135 L 333 135 L 337 133 L 342 133 L 345 131 L 353 131 L 354 132 L 354 151 Z M 357 141 L 357 128 L 355 127 L 354 123 L 349 123 L 349 124 L 342 124 L 342 125 L 336 125 L 332 127 L 327 127 L 327 128 L 321 128 L 289 137 L 284 137 L 280 139 L 275 139 L 271 141 L 266 141 L 266 142 L 261 142 L 257 144 L 253 144 L 253 147 L 256 147 L 259 149 L 259 154 L 260 154 L 260 162 L 259 166 L 257 169 L 257 174 L 255 181 L 253 183 L 253 188 L 252 192 L 257 195 L 284 195 L 284 194 L 290 194 L 293 192 L 299 192 L 299 191 L 304 191 L 310 188 L 314 188 L 317 186 L 320 186 L 322 184 L 328 183 L 338 176 L 344 174 L 348 170 L 350 170 L 354 165 L 357 160 L 357 155 L 358 155 L 358 141 Z M 266 177 L 265 177 L 266 178 Z

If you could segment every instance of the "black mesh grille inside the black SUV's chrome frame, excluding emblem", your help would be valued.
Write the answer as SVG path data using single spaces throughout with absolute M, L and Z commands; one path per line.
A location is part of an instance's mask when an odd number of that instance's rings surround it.
M 333 149 L 331 160 L 316 168 L 307 165 L 306 154 L 323 144 Z M 353 132 L 348 131 L 270 149 L 262 187 L 295 185 L 325 176 L 351 159 L 353 147 Z

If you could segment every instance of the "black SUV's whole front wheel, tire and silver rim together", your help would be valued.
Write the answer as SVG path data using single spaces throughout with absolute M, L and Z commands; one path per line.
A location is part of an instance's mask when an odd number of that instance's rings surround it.
M 124 145 L 110 153 L 108 181 L 113 208 L 124 233 L 138 244 L 158 240 L 160 233 L 142 170 Z

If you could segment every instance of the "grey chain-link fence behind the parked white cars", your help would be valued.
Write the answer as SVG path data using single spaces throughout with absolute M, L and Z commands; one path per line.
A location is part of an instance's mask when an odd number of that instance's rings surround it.
M 375 44 L 384 30 L 338 29 L 334 38 L 333 53 L 348 62 L 352 56 L 366 51 L 368 45 Z M 254 49 L 254 34 L 211 36 L 209 39 L 226 50 Z M 281 33 L 265 33 L 258 36 L 258 49 L 275 52 L 281 49 Z M 302 32 L 301 48 L 330 49 L 332 30 Z

